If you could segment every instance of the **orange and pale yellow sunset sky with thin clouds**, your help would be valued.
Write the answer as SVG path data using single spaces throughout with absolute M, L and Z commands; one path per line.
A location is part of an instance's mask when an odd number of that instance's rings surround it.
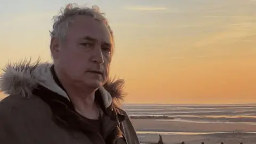
M 0 67 L 51 61 L 52 16 L 69 2 L 1 1 Z M 71 2 L 106 13 L 116 43 L 111 75 L 126 79 L 125 102 L 256 102 L 255 0 Z

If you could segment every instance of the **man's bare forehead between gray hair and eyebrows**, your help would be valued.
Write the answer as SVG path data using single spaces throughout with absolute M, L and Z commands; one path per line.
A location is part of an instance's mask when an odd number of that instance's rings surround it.
M 67 38 L 83 39 L 84 37 L 111 43 L 111 35 L 105 23 L 89 15 L 76 15 L 67 29 Z

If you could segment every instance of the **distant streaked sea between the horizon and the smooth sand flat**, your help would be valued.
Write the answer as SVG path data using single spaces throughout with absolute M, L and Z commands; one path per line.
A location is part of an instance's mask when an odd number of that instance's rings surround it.
M 123 109 L 125 109 L 127 114 L 130 116 L 155 117 L 157 119 L 156 121 L 178 121 L 188 123 L 244 123 L 256 125 L 256 103 L 233 105 L 125 104 L 123 105 Z M 165 118 L 161 119 L 157 117 Z M 167 134 L 167 132 L 164 133 Z M 170 133 L 175 134 L 173 132 Z

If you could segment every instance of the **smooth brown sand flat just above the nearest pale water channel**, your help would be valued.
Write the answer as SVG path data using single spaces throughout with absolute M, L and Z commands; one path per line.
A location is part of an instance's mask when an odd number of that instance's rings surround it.
M 171 132 L 256 132 L 256 125 L 234 123 L 187 123 L 156 121 L 155 119 L 132 119 L 137 131 Z

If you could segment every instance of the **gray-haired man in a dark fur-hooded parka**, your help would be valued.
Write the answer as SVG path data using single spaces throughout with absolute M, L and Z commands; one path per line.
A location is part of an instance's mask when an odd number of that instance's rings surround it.
M 139 143 L 118 106 L 123 80 L 109 79 L 114 39 L 105 17 L 98 7 L 69 4 L 54 19 L 53 65 L 25 60 L 4 69 L 0 142 Z

